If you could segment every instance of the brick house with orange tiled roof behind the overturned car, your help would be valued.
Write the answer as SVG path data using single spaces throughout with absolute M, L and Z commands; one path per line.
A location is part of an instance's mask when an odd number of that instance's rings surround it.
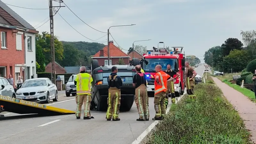
M 129 58 L 126 53 L 121 51 L 118 47 L 116 47 L 113 41 L 109 41 L 109 57 L 110 57 L 110 65 L 118 64 L 119 59 L 123 59 L 126 65 L 129 65 Z M 108 65 L 108 46 L 105 46 L 103 49 L 100 49 L 94 56 L 92 56 L 92 60 L 98 60 L 100 66 Z

